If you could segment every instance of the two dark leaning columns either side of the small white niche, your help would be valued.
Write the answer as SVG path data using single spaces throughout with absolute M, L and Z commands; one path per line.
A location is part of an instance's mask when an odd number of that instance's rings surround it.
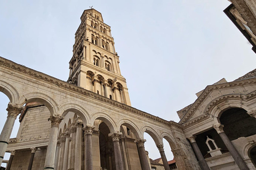
M 220 135 L 221 140 L 223 141 L 223 143 L 225 144 L 225 146 L 227 147 L 227 149 L 229 150 L 231 156 L 233 157 L 233 159 L 235 160 L 237 166 L 240 169 L 244 169 L 244 170 L 249 170 L 249 168 L 247 167 L 246 163 L 244 162 L 243 158 L 241 157 L 241 155 L 239 155 L 238 151 L 236 150 L 236 148 L 234 147 L 233 143 L 229 140 L 229 138 L 227 137 L 227 134 L 223 131 L 223 127 L 224 125 L 217 123 L 213 125 L 213 128 L 217 131 L 217 133 Z M 197 143 L 196 143 L 196 137 L 195 136 L 191 136 L 188 138 L 190 140 L 190 143 L 195 151 L 195 154 L 198 158 L 199 164 L 201 165 L 202 169 L 206 169 L 206 170 L 210 170 L 209 166 L 207 165 L 204 156 L 202 155 L 202 152 L 200 151 Z

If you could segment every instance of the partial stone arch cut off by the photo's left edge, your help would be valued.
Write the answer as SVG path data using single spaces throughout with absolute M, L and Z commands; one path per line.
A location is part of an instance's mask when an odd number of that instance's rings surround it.
M 10 83 L 0 80 L 0 91 L 9 98 L 11 103 L 18 103 L 19 92 Z

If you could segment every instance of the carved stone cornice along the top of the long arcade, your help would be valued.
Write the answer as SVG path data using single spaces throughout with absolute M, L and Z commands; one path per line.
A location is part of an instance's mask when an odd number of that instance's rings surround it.
M 61 87 L 61 88 L 67 89 L 67 90 L 71 90 L 73 92 L 77 92 L 78 94 L 81 94 L 83 96 L 90 97 L 90 98 L 93 98 L 95 100 L 99 100 L 99 101 L 101 101 L 103 103 L 106 103 L 108 105 L 119 107 L 119 108 L 124 109 L 125 111 L 128 111 L 128 112 L 131 112 L 133 114 L 149 118 L 150 120 L 153 120 L 155 122 L 159 122 L 159 123 L 162 123 L 162 124 L 165 124 L 165 125 L 170 125 L 170 122 L 171 122 L 172 125 L 177 126 L 177 127 L 180 128 L 180 125 L 178 123 L 175 123 L 175 122 L 172 122 L 172 121 L 166 121 L 163 118 L 151 115 L 151 114 L 146 113 L 146 112 L 142 112 L 139 109 L 133 108 L 131 106 L 127 106 L 125 104 L 119 103 L 118 101 L 111 100 L 107 97 L 95 94 L 94 92 L 91 92 L 89 90 L 85 90 L 81 87 L 77 87 L 73 84 L 67 83 L 66 81 L 62 81 L 62 80 L 59 80 L 57 78 L 51 77 L 50 75 L 35 71 L 33 69 L 29 69 L 26 66 L 14 63 L 10 60 L 7 60 L 6 58 L 0 57 L 0 65 L 8 67 L 9 69 L 15 70 L 17 72 L 27 74 L 31 77 L 46 81 L 48 83 L 54 84 L 55 86 L 58 86 L 58 87 Z

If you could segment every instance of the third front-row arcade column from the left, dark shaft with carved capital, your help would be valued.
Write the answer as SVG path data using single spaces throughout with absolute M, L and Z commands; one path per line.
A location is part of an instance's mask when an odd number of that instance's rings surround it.
M 85 131 L 85 170 L 93 170 L 92 162 L 92 131 L 94 126 L 86 125 Z

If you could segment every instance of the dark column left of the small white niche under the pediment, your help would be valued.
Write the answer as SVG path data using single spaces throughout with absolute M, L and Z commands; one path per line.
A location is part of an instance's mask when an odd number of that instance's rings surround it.
M 198 145 L 196 143 L 196 137 L 194 137 L 193 135 L 191 137 L 188 138 L 190 140 L 190 143 L 196 153 L 196 157 L 199 160 L 199 165 L 201 166 L 201 168 L 203 170 L 210 170 L 209 166 L 207 165 L 204 156 L 202 155 L 202 152 L 200 151 L 200 149 L 198 148 Z

